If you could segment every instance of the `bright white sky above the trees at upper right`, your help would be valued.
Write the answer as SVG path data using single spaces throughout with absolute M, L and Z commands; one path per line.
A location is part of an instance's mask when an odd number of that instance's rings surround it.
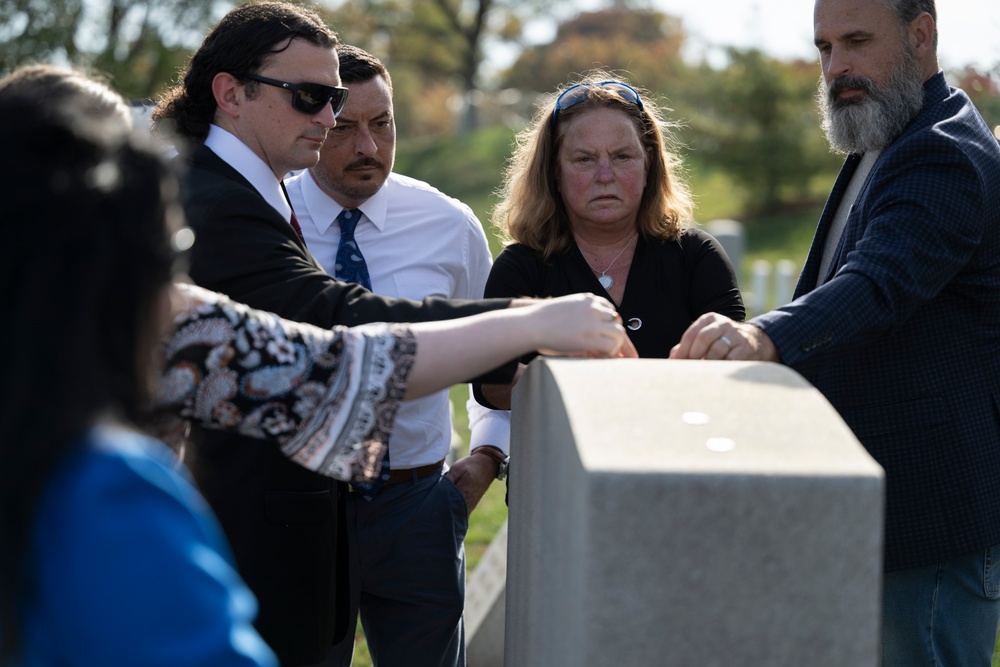
M 695 53 L 712 47 L 757 47 L 779 58 L 816 58 L 811 0 L 651 0 L 680 17 Z M 572 0 L 579 11 L 607 6 L 606 0 Z M 1000 66 L 1000 2 L 937 0 L 938 56 L 945 69 L 967 64 L 980 71 Z M 552 39 L 541 29 L 536 41 Z M 532 31 L 533 37 L 535 32 Z

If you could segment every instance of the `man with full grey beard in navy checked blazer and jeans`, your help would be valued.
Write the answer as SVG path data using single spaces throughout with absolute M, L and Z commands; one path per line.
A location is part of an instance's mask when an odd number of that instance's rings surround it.
M 848 155 L 792 303 L 699 318 L 674 358 L 776 361 L 885 469 L 883 665 L 990 665 L 1000 621 L 1000 146 L 936 55 L 933 0 L 817 0 Z

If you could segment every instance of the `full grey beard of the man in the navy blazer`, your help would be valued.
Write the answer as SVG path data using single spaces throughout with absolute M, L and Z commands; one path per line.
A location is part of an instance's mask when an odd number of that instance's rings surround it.
M 920 64 L 909 50 L 884 86 L 867 77 L 845 76 L 828 88 L 820 77 L 816 101 L 830 147 L 838 153 L 862 154 L 891 144 L 923 107 L 922 79 Z M 860 88 L 865 94 L 856 100 L 837 99 L 844 88 Z

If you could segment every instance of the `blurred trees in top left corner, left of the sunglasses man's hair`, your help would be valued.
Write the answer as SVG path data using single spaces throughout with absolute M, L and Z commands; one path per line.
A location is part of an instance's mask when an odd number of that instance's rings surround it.
M 233 3 L 224 0 L 0 0 L 0 51 L 8 71 L 66 62 L 104 72 L 126 97 L 170 82 Z

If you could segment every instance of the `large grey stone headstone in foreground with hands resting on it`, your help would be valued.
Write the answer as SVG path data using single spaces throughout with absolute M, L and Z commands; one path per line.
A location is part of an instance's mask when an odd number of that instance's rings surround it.
M 878 664 L 882 470 L 794 371 L 540 358 L 512 416 L 506 665 Z

